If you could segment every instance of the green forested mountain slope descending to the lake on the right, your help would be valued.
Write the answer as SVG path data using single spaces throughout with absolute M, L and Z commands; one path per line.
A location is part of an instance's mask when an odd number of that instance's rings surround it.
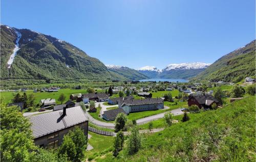
M 221 57 L 195 78 L 237 83 L 247 76 L 254 75 L 255 40 Z

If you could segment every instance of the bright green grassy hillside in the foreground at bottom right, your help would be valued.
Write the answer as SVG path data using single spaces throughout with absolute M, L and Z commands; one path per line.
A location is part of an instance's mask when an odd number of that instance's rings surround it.
M 134 155 L 108 156 L 98 161 L 255 161 L 255 97 L 222 109 L 189 114 L 151 135 Z

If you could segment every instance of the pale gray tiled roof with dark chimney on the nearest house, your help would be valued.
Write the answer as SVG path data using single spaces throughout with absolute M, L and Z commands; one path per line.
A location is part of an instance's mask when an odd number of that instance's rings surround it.
M 67 109 L 67 115 L 65 117 L 62 117 L 62 110 L 59 110 L 31 116 L 29 120 L 32 123 L 31 129 L 34 138 L 39 138 L 52 132 L 86 122 L 88 118 L 81 107 L 76 106 Z

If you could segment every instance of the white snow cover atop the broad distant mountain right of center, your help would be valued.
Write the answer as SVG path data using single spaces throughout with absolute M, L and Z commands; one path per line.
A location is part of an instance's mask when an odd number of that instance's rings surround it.
M 208 63 L 181 63 L 181 64 L 169 64 L 166 68 L 164 68 L 164 71 L 168 70 L 184 70 L 184 69 L 203 69 L 207 68 L 210 64 Z

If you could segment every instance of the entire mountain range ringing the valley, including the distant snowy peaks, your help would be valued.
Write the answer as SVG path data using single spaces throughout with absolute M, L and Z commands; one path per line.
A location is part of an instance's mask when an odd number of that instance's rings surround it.
M 104 65 L 76 46 L 49 35 L 1 24 L 1 79 L 139 80 L 148 78 L 208 79 L 239 82 L 255 75 L 255 40 L 213 64 L 169 64 L 164 69 L 137 70 Z

